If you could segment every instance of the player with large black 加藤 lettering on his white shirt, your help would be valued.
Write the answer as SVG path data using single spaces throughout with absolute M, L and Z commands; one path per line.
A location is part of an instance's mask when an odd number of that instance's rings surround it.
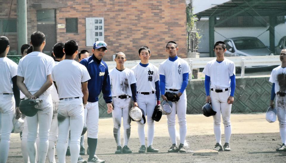
M 141 62 L 134 66 L 131 70 L 135 73 L 137 80 L 137 102 L 140 109 L 147 113 L 147 152 L 158 152 L 159 150 L 153 147 L 155 123 L 152 120 L 154 108 L 160 105 L 160 86 L 158 68 L 149 63 L 151 56 L 150 49 L 147 46 L 139 48 L 139 58 Z M 156 101 L 157 99 L 157 101 Z M 145 124 L 138 123 L 138 135 L 141 147 L 139 153 L 146 151 L 145 147 Z

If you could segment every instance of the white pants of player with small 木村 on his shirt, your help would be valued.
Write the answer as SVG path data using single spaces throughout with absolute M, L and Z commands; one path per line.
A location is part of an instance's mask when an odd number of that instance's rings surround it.
M 172 91 L 170 91 L 172 92 Z M 173 93 L 179 93 L 173 92 Z M 186 121 L 186 111 L 187 111 L 187 96 L 186 91 L 181 95 L 180 100 L 177 102 L 172 102 L 172 112 L 171 114 L 167 115 L 167 124 L 168 124 L 168 132 L 170 135 L 170 139 L 172 141 L 172 144 L 177 145 L 176 140 L 176 111 L 177 111 L 177 117 L 178 117 L 178 123 L 179 123 L 179 130 L 180 130 L 180 143 L 184 144 L 186 139 L 186 133 L 187 133 L 187 121 Z

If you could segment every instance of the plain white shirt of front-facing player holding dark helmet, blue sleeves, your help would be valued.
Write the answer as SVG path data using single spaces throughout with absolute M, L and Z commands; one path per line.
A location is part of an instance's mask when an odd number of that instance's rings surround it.
M 211 77 L 211 88 L 230 88 L 230 76 L 235 75 L 234 62 L 224 58 L 223 62 L 218 63 L 213 59 L 206 64 L 203 73 Z

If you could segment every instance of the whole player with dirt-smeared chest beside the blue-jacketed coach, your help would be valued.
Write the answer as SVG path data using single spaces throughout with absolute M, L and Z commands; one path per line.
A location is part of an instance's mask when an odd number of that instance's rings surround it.
M 113 135 L 117 144 L 115 153 L 132 153 L 131 149 L 128 148 L 131 129 L 129 109 L 131 108 L 131 96 L 133 98 L 133 106 L 138 107 L 136 98 L 136 77 L 132 70 L 124 67 L 126 56 L 122 51 L 116 53 L 114 61 L 116 62 L 116 67 L 110 70 L 109 77 L 114 105 L 114 110 L 111 111 L 114 124 Z M 121 117 L 123 117 L 124 127 L 123 148 L 120 143 Z

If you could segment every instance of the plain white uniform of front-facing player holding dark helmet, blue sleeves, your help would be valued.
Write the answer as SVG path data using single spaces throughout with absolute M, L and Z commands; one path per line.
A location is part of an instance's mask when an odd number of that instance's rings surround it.
M 229 143 L 231 137 L 231 122 L 230 113 L 232 104 L 228 104 L 227 99 L 230 95 L 230 76 L 235 75 L 234 62 L 224 58 L 222 62 L 217 62 L 216 59 L 209 61 L 203 73 L 210 76 L 211 79 L 211 93 L 212 109 L 217 113 L 213 116 L 214 119 L 214 133 L 217 143 L 221 144 L 221 116 L 223 118 L 225 141 Z M 225 91 L 225 89 L 228 89 Z M 217 93 L 215 89 L 223 90 Z

